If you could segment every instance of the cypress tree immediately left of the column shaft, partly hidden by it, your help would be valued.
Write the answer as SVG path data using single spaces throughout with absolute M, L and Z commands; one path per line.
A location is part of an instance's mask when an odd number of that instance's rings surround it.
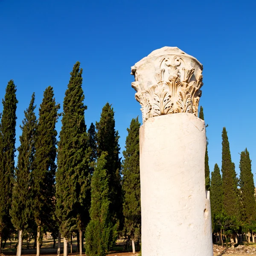
M 139 239 L 141 233 L 140 207 L 140 122 L 138 117 L 131 120 L 127 128 L 128 136 L 123 151 L 123 215 L 125 217 L 125 233 L 131 237 L 133 253 L 134 240 Z

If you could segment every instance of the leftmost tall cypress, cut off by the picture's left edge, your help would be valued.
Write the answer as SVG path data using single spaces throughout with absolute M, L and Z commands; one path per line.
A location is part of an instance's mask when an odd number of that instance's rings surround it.
M 3 230 L 12 227 L 9 210 L 11 209 L 12 187 L 15 170 L 15 127 L 16 127 L 16 86 L 10 80 L 3 99 L 3 115 L 1 118 L 0 138 L 0 253 Z

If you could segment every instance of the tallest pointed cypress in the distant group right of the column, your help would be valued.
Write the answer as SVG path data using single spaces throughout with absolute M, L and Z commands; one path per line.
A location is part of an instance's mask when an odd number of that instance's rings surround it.
M 236 178 L 235 164 L 231 161 L 230 145 L 227 130 L 222 131 L 222 187 L 223 209 L 227 215 L 240 219 L 240 203 L 238 194 L 238 182 Z

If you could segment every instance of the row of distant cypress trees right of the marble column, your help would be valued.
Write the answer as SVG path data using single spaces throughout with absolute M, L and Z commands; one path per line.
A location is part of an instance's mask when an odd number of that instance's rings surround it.
M 199 117 L 204 120 L 203 108 Z M 208 142 L 207 142 L 208 144 Z M 222 163 L 221 172 L 218 164 L 214 166 L 209 178 L 208 151 L 205 157 L 206 189 L 210 190 L 212 232 L 216 241 L 223 246 L 223 237 L 239 242 L 239 234 L 246 234 L 250 241 L 250 233 L 256 233 L 256 199 L 250 155 L 245 148 L 240 154 L 240 176 L 236 176 L 235 164 L 231 160 L 227 130 L 222 130 Z M 222 176 L 221 176 L 222 174 Z

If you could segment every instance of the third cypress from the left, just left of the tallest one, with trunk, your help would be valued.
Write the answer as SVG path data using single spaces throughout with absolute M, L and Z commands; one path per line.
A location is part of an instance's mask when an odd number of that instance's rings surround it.
M 57 131 L 60 105 L 55 103 L 53 88 L 47 87 L 39 108 L 35 141 L 35 168 L 32 170 L 32 209 L 37 224 L 37 256 L 40 255 L 40 236 L 43 225 L 50 226 L 54 210 L 55 158 L 57 154 Z

